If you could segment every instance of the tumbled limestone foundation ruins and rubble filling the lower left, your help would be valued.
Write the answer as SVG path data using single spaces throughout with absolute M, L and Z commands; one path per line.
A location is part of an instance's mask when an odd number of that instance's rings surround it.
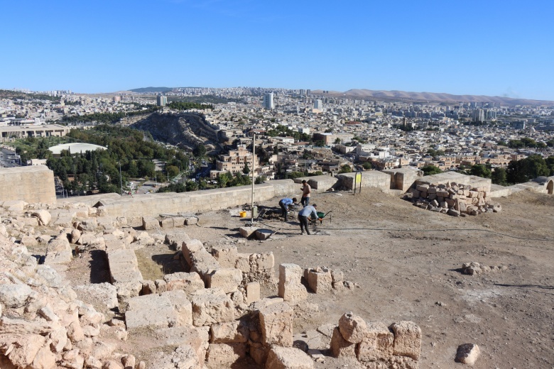
M 231 368 L 245 360 L 313 368 L 325 350 L 367 368 L 418 368 L 421 332 L 411 322 L 386 326 L 349 313 L 317 331 L 294 331 L 295 316 L 320 314 L 310 293 L 356 288 L 340 270 L 284 263 L 276 280 L 271 252 L 190 239 L 193 216 L 126 219 L 85 204 L 2 205 L 0 368 L 146 368 L 121 350 L 145 330 L 160 351 L 151 368 Z M 144 280 L 135 250 L 162 243 L 185 272 Z M 31 255 L 27 247 L 40 245 L 45 255 Z M 66 280 L 87 251 L 103 255 L 109 283 Z M 261 286 L 276 297 L 261 298 Z

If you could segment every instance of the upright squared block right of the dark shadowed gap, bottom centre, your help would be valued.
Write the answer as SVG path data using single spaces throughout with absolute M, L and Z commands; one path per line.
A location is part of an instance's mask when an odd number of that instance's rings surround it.
M 259 309 L 262 341 L 266 345 L 293 346 L 293 308 L 278 302 Z

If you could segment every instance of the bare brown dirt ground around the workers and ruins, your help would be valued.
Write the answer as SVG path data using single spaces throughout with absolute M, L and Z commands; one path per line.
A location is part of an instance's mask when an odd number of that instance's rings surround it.
M 339 268 L 357 283 L 352 291 L 310 294 L 308 302 L 318 304 L 320 313 L 295 319 L 295 334 L 337 324 L 352 311 L 366 321 L 418 324 L 420 368 L 462 368 L 455 363 L 462 343 L 481 349 L 474 368 L 554 368 L 554 197 L 519 192 L 497 202 L 499 213 L 455 218 L 377 189 L 313 194 L 318 211 L 332 211 L 315 226 L 316 234 L 301 236 L 296 219 L 264 221 L 260 228 L 278 232 L 268 241 L 241 241 L 237 247 L 239 253 L 273 251 L 276 267 Z M 260 205 L 278 208 L 278 199 Z M 238 209 L 200 214 L 200 223 L 185 231 L 207 246 L 237 240 L 247 220 L 237 214 Z M 137 254 L 141 270 L 156 277 L 167 268 L 157 264 L 171 263 L 173 251 L 158 246 Z M 462 274 L 462 263 L 470 261 L 508 270 Z M 276 289 L 264 292 L 275 295 Z M 147 348 L 141 351 L 134 342 L 130 337 L 126 348 L 143 359 Z M 332 357 L 315 366 L 359 367 Z

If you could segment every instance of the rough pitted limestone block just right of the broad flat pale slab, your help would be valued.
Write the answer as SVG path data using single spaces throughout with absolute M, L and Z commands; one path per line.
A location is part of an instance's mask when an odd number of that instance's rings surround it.
M 210 289 L 202 294 L 192 294 L 191 300 L 192 324 L 195 326 L 234 320 L 234 304 L 223 292 Z

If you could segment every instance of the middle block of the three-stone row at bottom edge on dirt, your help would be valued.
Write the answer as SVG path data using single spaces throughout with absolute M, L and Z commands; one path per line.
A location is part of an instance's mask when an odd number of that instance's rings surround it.
M 360 361 L 389 360 L 393 355 L 394 335 L 385 324 L 368 322 L 366 336 L 357 346 Z

